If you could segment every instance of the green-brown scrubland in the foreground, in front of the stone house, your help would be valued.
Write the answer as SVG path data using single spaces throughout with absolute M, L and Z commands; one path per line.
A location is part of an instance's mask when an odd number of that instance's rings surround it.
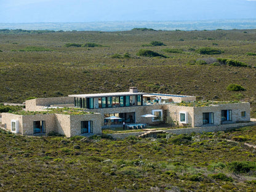
M 256 127 L 158 138 L 0 132 L 0 191 L 255 191 Z

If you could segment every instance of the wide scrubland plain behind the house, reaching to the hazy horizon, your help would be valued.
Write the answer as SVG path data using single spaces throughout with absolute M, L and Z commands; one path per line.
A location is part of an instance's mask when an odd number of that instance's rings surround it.
M 3 30 L 0 102 L 137 86 L 198 100 L 248 101 L 256 116 L 256 30 L 244 31 Z M 145 44 L 151 46 L 142 49 Z M 226 89 L 229 84 L 245 90 L 234 93 Z

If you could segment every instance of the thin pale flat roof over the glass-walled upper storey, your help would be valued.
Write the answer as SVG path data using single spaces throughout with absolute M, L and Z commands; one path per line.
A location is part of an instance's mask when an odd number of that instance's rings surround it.
M 103 93 L 103 94 L 78 94 L 78 95 L 68 95 L 68 97 L 79 97 L 79 98 L 97 98 L 97 97 L 118 97 L 118 96 L 135 96 L 135 95 L 143 95 L 146 93 L 138 92 L 115 92 L 115 93 Z

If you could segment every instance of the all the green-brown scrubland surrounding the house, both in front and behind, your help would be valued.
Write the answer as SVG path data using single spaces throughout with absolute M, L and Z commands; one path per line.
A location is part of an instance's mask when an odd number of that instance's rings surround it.
M 137 86 L 250 102 L 256 117 L 256 30 L 0 32 L 0 103 Z M 255 191 L 255 149 L 244 145 L 256 145 L 255 131 L 124 140 L 1 131 L 0 191 Z

